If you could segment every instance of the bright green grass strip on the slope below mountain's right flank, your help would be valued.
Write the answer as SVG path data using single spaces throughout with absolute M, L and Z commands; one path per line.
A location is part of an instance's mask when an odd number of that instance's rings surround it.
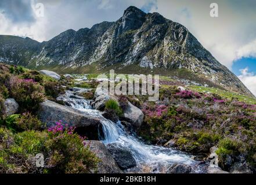
M 230 92 L 221 90 L 219 88 L 213 88 L 213 87 L 201 87 L 201 86 L 189 86 L 191 90 L 197 91 L 197 92 L 211 92 L 220 95 L 223 98 L 237 98 L 239 101 L 250 103 L 250 104 L 256 104 L 256 98 L 248 97 L 246 95 L 239 94 L 237 92 Z

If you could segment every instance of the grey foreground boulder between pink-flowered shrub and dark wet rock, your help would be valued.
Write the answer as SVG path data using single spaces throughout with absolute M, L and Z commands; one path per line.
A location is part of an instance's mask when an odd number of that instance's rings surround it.
M 116 161 L 102 142 L 98 140 L 87 140 L 85 145 L 89 145 L 89 149 L 100 159 L 98 173 L 122 173 Z

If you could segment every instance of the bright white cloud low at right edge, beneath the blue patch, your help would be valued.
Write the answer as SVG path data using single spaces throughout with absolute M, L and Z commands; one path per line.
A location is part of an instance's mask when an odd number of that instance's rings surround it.
M 249 68 L 240 69 L 241 75 L 239 79 L 246 87 L 256 96 L 256 75 L 253 72 L 248 72 Z

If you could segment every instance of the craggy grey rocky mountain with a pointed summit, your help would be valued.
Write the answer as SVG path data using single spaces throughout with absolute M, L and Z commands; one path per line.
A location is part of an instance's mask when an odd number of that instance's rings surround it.
M 253 96 L 183 25 L 134 6 L 116 22 L 104 21 L 78 31 L 68 29 L 47 42 L 2 35 L 0 61 L 63 72 L 114 68 L 127 73 L 164 71 L 171 75 L 185 69 L 212 86 Z

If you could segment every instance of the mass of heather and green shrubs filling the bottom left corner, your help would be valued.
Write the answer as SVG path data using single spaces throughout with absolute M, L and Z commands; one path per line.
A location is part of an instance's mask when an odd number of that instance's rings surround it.
M 62 121 L 44 131 L 0 128 L 0 173 L 95 172 L 99 160 L 84 140 Z M 35 166 L 38 153 L 44 154 L 44 167 Z

